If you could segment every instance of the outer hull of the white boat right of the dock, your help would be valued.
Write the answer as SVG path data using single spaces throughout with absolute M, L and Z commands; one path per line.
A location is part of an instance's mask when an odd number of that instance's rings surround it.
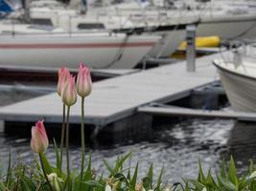
M 236 111 L 256 112 L 256 75 L 236 73 L 220 60 L 214 61 L 231 107 Z

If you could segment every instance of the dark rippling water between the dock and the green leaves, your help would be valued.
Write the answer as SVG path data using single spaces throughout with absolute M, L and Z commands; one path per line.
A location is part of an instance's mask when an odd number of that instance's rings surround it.
M 22 95 L 22 99 L 33 95 Z M 35 96 L 35 95 L 34 95 Z M 1 96 L 2 101 L 8 96 Z M 4 98 L 5 97 L 5 98 Z M 9 96 L 9 99 L 11 96 Z M 15 100 L 16 101 L 16 100 Z M 13 102 L 15 102 L 13 101 Z M 198 173 L 198 159 L 204 169 L 218 170 L 221 159 L 233 155 L 242 171 L 248 159 L 256 159 L 256 125 L 234 120 L 222 119 L 183 119 L 177 122 L 155 124 L 148 138 L 130 138 L 126 141 L 105 144 L 92 143 L 90 147 L 93 166 L 97 172 L 105 171 L 103 159 L 113 163 L 117 156 L 132 151 L 130 166 L 139 161 L 141 174 L 147 171 L 151 162 L 155 172 L 165 166 L 164 180 L 174 182 L 179 177 L 189 178 Z M 30 138 L 7 137 L 0 135 L 0 160 L 3 168 L 7 166 L 9 147 L 12 160 L 22 159 L 30 163 L 35 155 L 30 149 Z M 88 151 L 87 151 L 88 152 Z M 47 156 L 55 162 L 53 145 L 47 150 Z M 71 143 L 73 167 L 80 163 L 80 147 Z

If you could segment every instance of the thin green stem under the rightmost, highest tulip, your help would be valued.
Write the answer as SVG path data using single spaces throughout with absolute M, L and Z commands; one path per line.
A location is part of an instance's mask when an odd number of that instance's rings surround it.
M 81 180 L 83 176 L 84 167 L 84 155 L 85 155 L 85 143 L 84 143 L 84 96 L 81 97 Z

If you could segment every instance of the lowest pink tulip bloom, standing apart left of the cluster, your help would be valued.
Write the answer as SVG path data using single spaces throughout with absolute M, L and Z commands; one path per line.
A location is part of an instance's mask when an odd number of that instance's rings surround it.
M 43 125 L 43 120 L 39 120 L 35 123 L 35 126 L 32 127 L 31 134 L 32 150 L 35 151 L 35 153 L 44 152 L 49 145 L 49 141 Z

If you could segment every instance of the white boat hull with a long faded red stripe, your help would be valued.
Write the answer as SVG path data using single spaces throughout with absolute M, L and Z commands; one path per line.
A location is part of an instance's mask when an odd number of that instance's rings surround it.
M 75 69 L 84 62 L 95 69 L 131 69 L 159 39 L 108 32 L 1 34 L 0 65 Z

